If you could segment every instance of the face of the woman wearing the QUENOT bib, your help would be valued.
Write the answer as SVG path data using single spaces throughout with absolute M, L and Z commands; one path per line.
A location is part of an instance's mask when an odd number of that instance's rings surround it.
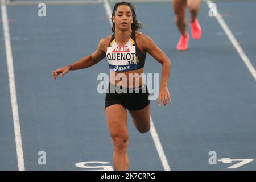
M 133 14 L 131 13 L 130 7 L 127 5 L 118 6 L 113 16 L 113 22 L 115 23 L 115 28 L 121 30 L 130 28 L 131 23 L 133 23 Z

